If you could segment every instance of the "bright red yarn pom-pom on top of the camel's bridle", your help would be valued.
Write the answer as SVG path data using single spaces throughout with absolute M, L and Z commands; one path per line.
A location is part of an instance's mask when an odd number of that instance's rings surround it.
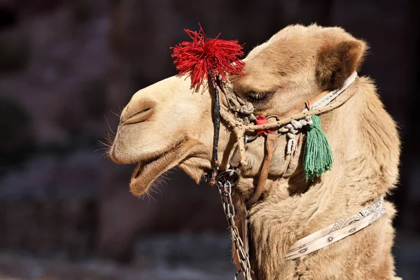
M 191 77 L 191 88 L 197 91 L 210 71 L 213 71 L 212 78 L 220 74 L 224 80 L 227 74 L 244 75 L 245 62 L 238 58 L 244 52 L 237 40 L 218 39 L 220 34 L 216 38 L 207 38 L 201 25 L 198 32 L 184 30 L 193 42 L 183 42 L 172 47 L 172 57 L 179 75 Z

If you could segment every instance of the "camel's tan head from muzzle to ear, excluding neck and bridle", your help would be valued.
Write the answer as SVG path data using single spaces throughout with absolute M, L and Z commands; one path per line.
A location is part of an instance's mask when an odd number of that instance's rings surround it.
M 229 79 L 235 94 L 253 104 L 255 116 L 282 116 L 325 90 L 341 87 L 360 66 L 365 49 L 363 41 L 341 28 L 293 25 L 254 48 L 244 59 L 244 76 Z M 209 172 L 212 102 L 209 90 L 193 92 L 190 78 L 179 76 L 133 95 L 121 113 L 109 155 L 119 164 L 137 165 L 130 183 L 134 195 L 146 193 L 158 176 L 176 166 L 197 182 Z M 241 184 L 249 192 L 264 157 L 260 138 L 246 146 L 247 165 L 241 170 Z M 269 180 L 284 171 L 284 146 L 286 139 L 280 137 Z M 218 159 L 222 169 L 228 167 L 234 149 L 232 130 L 222 123 Z M 297 165 L 287 173 L 295 172 Z

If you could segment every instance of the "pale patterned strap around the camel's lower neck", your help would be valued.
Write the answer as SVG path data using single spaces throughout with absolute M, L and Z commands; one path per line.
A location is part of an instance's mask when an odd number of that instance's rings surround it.
M 384 197 L 381 197 L 376 203 L 358 212 L 358 214 L 350 218 L 343 219 L 329 225 L 322 230 L 318 230 L 307 237 L 298 240 L 295 244 L 290 246 L 285 255 L 286 260 L 293 260 L 307 255 L 311 252 L 317 251 L 320 248 L 328 246 L 335 241 L 339 241 L 344 237 L 358 232 L 367 225 L 377 221 L 385 213 Z

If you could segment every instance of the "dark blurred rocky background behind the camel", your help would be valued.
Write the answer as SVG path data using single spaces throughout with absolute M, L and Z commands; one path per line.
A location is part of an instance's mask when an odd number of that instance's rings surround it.
M 99 143 L 134 92 L 176 73 L 169 46 L 197 22 L 246 52 L 294 23 L 370 44 L 361 74 L 403 145 L 396 265 L 419 279 L 417 12 L 408 0 L 0 0 L 0 279 L 232 279 L 216 189 L 174 170 L 139 200 L 133 167 Z

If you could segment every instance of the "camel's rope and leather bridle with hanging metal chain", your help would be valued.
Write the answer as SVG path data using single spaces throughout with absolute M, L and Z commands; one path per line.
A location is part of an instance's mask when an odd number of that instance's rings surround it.
M 262 195 L 279 137 L 286 134 L 288 139 L 286 147 L 287 163 L 283 171 L 283 174 L 285 174 L 288 165 L 293 159 L 293 155 L 295 155 L 298 146 L 302 142 L 302 128 L 311 125 L 311 116 L 318 116 L 332 111 L 349 100 L 357 90 L 346 91 L 346 89 L 356 80 L 356 77 L 357 73 L 352 73 L 341 88 L 331 92 L 321 92 L 321 94 L 316 95 L 316 97 L 305 102 L 302 106 L 289 111 L 281 117 L 275 115 L 264 117 L 253 114 L 253 105 L 235 94 L 228 78 L 222 79 L 221 76 L 215 76 L 212 71 L 209 71 L 209 85 L 214 92 L 214 139 L 211 172 L 207 175 L 206 180 L 210 186 L 217 185 L 219 194 L 221 195 L 223 209 L 228 220 L 232 241 L 235 244 L 235 251 L 241 267 L 235 274 L 235 279 L 237 279 L 239 274 L 242 274 L 246 280 L 252 279 L 251 274 L 253 272 L 248 253 L 247 210 L 251 209 Z M 222 105 L 219 89 L 223 92 L 225 98 Z M 225 121 L 228 127 L 232 128 L 237 140 L 237 146 L 229 161 L 230 167 L 225 170 L 219 169 L 218 162 L 218 139 L 221 119 Z M 270 119 L 274 119 L 274 121 L 269 122 L 268 120 Z M 249 136 L 249 134 L 253 135 Z M 239 214 L 241 220 L 241 231 L 239 231 L 235 224 L 232 188 L 239 181 L 239 167 L 247 165 L 245 145 L 258 137 L 265 137 L 265 157 L 262 161 L 260 176 L 254 193 L 246 202 L 246 210 Z M 281 174 L 280 178 L 283 174 Z

